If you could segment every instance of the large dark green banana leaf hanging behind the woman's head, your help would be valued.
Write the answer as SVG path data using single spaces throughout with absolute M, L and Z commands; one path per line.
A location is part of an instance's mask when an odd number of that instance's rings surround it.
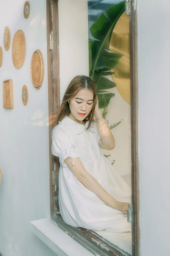
M 89 76 L 96 84 L 99 108 L 106 107 L 114 96 L 114 94 L 108 92 L 107 94 L 101 93 L 116 86 L 114 82 L 103 76 L 114 74 L 110 70 L 118 64 L 122 57 L 121 54 L 111 52 L 109 44 L 113 28 L 124 11 L 125 1 L 122 1 L 108 8 L 106 10 L 107 17 L 102 13 L 90 27 L 95 40 L 89 39 Z

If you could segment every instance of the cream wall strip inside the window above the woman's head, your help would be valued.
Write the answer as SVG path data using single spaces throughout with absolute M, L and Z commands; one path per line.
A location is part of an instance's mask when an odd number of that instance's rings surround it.
M 59 0 L 60 100 L 71 79 L 89 75 L 86 0 Z

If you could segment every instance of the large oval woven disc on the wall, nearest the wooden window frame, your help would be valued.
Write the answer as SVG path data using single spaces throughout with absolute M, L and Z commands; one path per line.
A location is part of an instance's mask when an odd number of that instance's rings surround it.
M 31 59 L 31 81 L 39 89 L 44 80 L 44 58 L 40 50 L 35 50 Z

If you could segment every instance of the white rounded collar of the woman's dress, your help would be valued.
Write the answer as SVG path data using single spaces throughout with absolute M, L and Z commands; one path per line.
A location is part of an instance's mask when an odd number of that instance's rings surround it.
M 65 116 L 61 121 L 58 122 L 59 124 L 63 125 L 65 128 L 69 129 L 71 133 L 74 135 L 77 135 L 81 132 L 83 132 L 84 129 L 88 127 L 89 121 L 86 122 L 85 126 L 78 124 L 76 121 L 72 120 L 70 117 Z M 91 124 L 91 127 L 89 128 L 92 132 L 95 132 L 95 129 L 93 128 L 93 122 Z

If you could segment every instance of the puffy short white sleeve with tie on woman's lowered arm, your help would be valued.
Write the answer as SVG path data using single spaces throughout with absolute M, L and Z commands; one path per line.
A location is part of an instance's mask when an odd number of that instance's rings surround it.
M 77 141 L 74 141 L 63 129 L 59 129 L 57 126 L 52 130 L 51 139 L 52 154 L 59 157 L 60 164 L 66 167 L 67 164 L 64 160 L 70 157 L 73 159 L 74 165 L 74 158 L 79 157 Z

